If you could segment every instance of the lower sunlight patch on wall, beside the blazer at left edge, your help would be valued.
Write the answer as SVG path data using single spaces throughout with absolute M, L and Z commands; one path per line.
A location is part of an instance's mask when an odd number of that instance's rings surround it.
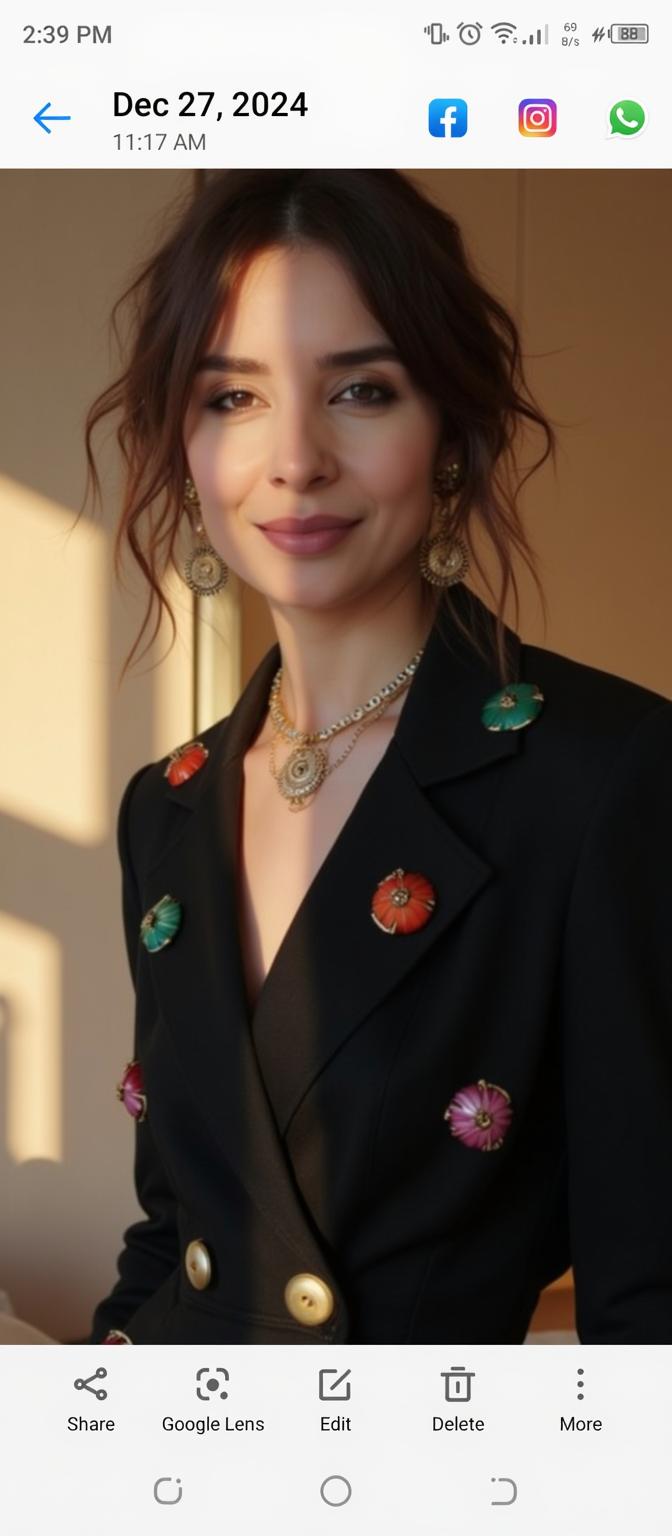
M 9 1157 L 63 1160 L 63 958 L 54 934 L 0 912 L 0 1084 Z

